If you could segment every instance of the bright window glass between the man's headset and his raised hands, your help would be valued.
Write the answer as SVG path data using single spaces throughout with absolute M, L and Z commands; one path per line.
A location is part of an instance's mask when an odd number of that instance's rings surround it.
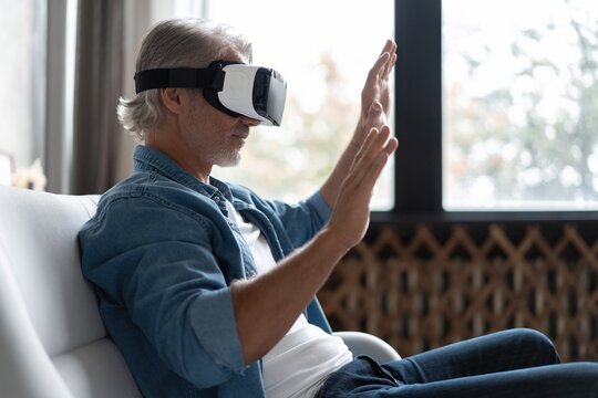
M 254 128 L 240 165 L 214 175 L 265 197 L 303 199 L 323 182 L 353 133 L 367 73 L 393 36 L 393 1 L 209 4 L 208 18 L 231 24 L 254 43 L 254 64 L 276 69 L 288 84 L 282 126 Z M 393 206 L 392 169 L 385 168 L 372 209 Z

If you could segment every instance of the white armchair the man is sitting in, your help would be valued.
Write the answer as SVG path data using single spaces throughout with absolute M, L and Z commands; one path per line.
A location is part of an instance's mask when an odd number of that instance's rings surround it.
M 140 397 L 80 270 L 78 232 L 97 196 L 0 186 L 0 386 L 6 397 Z M 342 332 L 353 354 L 400 356 Z

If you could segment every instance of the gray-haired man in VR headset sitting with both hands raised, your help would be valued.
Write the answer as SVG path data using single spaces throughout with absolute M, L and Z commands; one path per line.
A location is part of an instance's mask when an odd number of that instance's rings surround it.
M 513 395 L 529 380 L 503 370 L 558 362 L 532 331 L 383 366 L 353 359 L 315 295 L 363 238 L 373 186 L 398 146 L 385 125 L 395 44 L 386 42 L 368 75 L 355 132 L 330 177 L 293 206 L 210 177 L 214 165 L 238 164 L 250 127 L 280 123 L 283 81 L 250 60 L 250 44 L 226 27 L 164 21 L 140 50 L 138 94 L 118 108 L 145 145 L 133 175 L 83 227 L 82 266 L 144 396 L 498 397 L 505 384 L 519 388 Z M 256 101 L 256 86 L 267 100 Z M 251 90 L 252 103 L 239 105 Z M 532 380 L 563 381 L 563 368 L 553 369 Z M 569 370 L 582 376 L 558 396 L 588 396 L 596 367 Z

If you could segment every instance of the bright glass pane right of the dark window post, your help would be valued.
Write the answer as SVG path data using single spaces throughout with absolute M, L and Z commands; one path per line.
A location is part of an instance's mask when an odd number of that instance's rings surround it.
M 598 209 L 598 2 L 443 1 L 447 210 Z

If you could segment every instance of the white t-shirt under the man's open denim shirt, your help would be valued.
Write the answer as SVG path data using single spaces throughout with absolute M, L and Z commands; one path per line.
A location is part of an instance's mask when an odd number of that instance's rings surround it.
M 228 218 L 235 222 L 254 256 L 258 273 L 274 266 L 270 247 L 259 229 L 245 222 L 231 203 Z M 329 335 L 299 315 L 289 332 L 262 358 L 262 377 L 268 398 L 313 397 L 326 378 L 350 363 L 353 355 L 342 338 Z

